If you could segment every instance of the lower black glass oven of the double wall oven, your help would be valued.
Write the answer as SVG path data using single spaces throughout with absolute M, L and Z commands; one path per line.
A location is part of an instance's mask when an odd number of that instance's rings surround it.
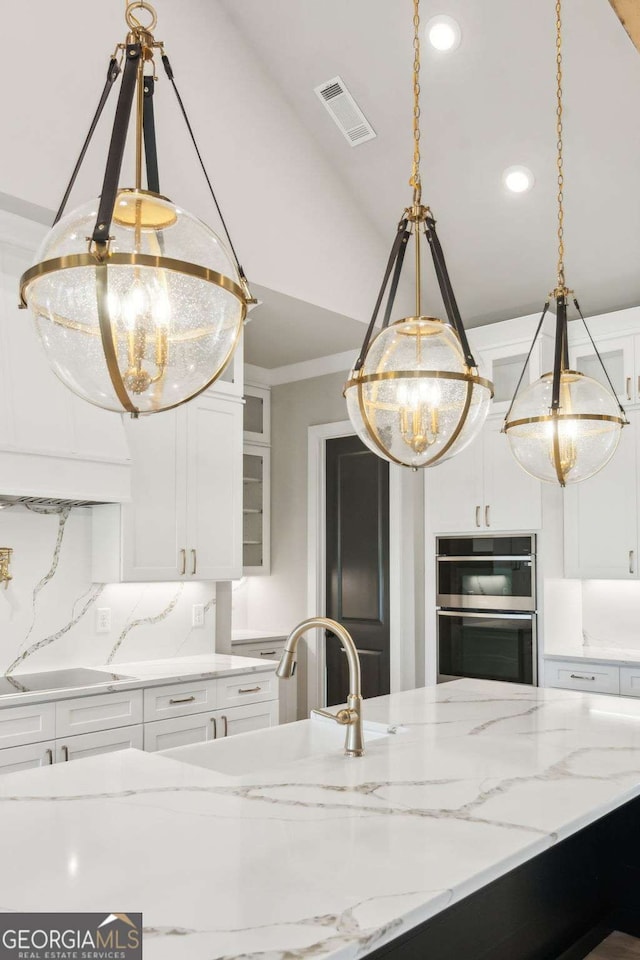
M 438 675 L 535 684 L 535 614 L 438 611 Z

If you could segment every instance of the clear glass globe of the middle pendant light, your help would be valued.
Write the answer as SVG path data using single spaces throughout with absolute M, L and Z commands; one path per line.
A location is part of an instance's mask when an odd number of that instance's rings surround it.
M 382 330 L 345 387 L 349 417 L 378 456 L 408 467 L 443 463 L 482 429 L 493 389 L 466 365 L 460 340 L 434 317 Z

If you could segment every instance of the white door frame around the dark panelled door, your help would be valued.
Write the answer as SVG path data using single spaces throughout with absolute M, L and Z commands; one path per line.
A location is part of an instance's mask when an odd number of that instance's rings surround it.
M 307 615 L 326 615 L 326 442 L 353 437 L 350 420 L 308 427 L 307 471 Z M 419 483 L 416 478 L 419 478 Z M 422 510 L 422 473 L 389 464 L 389 657 L 391 693 L 416 685 L 416 658 L 420 657 L 423 597 L 424 526 L 415 512 Z M 416 562 L 417 561 L 417 562 Z M 416 586 L 418 596 L 416 596 Z M 417 601 L 417 602 L 416 602 Z M 413 643 L 402 638 L 414 637 Z M 307 705 L 326 706 L 323 631 L 307 634 Z M 418 663 L 418 667 L 420 664 Z

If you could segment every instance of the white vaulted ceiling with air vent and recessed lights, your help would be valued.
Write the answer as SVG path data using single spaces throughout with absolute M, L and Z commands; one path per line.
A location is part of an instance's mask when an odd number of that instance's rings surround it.
M 5 5 L 20 36 L 23 5 Z M 55 208 L 124 3 L 31 0 L 29 57 L 5 45 L 2 194 Z M 345 349 L 368 319 L 411 159 L 410 0 L 157 0 L 165 39 L 244 266 L 265 294 L 248 350 L 265 366 Z M 535 311 L 555 280 L 553 0 L 423 0 L 454 16 L 459 49 L 423 50 L 423 180 L 465 321 Z M 640 303 L 640 56 L 608 0 L 565 3 L 567 279 L 587 313 Z M 96 39 L 99 38 L 99 39 Z M 340 74 L 373 124 L 351 148 L 313 88 Z M 160 96 L 162 94 L 162 96 Z M 166 83 L 163 188 L 212 220 Z M 107 131 L 76 200 L 96 194 Z M 505 167 L 536 176 L 507 194 Z M 427 307 L 441 309 L 429 283 Z M 294 298 L 283 306 L 281 295 Z M 299 301 L 335 315 L 324 328 Z M 261 319 L 262 315 L 262 319 Z M 336 319 L 338 318 L 338 319 Z M 324 329 L 324 336 L 321 335 Z M 312 331 L 310 336 L 309 331 Z M 341 339 L 342 338 L 342 339 Z M 351 343 L 348 343 L 351 346 Z

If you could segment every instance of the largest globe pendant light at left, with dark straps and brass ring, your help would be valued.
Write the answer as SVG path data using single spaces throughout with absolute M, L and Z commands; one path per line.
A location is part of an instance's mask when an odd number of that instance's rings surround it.
M 137 15 L 136 15 L 137 14 Z M 139 16 L 147 21 L 142 25 Z M 229 363 L 251 298 L 161 42 L 143 0 L 128 3 L 118 44 L 71 181 L 31 267 L 21 305 L 31 310 L 57 376 L 107 410 L 156 413 L 190 400 Z M 153 95 L 159 53 L 220 214 L 229 248 L 202 221 L 161 196 Z M 122 82 L 99 200 L 63 216 L 110 90 Z M 135 186 L 120 185 L 136 101 Z M 147 188 L 142 186 L 143 152 Z

